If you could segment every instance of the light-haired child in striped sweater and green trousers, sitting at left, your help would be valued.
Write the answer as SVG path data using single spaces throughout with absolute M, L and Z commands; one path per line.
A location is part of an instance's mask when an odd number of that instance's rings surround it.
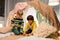
M 14 16 L 13 20 L 11 20 L 11 25 L 13 27 L 12 31 L 16 34 L 23 34 L 23 26 L 24 26 L 24 22 L 23 22 L 23 11 L 22 10 L 18 10 L 16 15 Z

